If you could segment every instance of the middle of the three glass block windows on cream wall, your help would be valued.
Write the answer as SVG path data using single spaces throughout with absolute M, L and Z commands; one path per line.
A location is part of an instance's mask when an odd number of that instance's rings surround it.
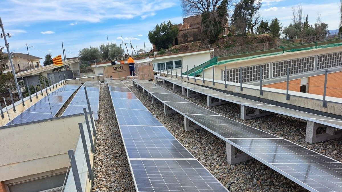
M 304 57 L 273 63 L 272 77 L 286 76 L 286 69 L 289 68 L 290 75 L 314 70 L 315 57 Z

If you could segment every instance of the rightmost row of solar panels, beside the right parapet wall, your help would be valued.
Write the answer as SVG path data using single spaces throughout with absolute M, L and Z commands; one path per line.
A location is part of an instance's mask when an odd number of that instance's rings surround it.
M 214 97 L 217 99 L 222 99 L 224 101 L 233 102 L 235 104 L 244 105 L 244 106 L 252 107 L 255 109 L 261 109 L 264 111 L 270 111 L 270 112 L 274 112 L 274 113 L 278 113 L 278 114 L 282 114 L 282 115 L 292 116 L 295 118 L 308 120 L 308 121 L 320 123 L 323 125 L 332 126 L 332 127 L 342 129 L 342 120 L 340 120 L 340 119 L 330 118 L 327 116 L 317 115 L 317 114 L 313 114 L 313 113 L 307 113 L 307 112 L 303 112 L 303 111 L 299 111 L 299 110 L 295 110 L 295 109 L 289 109 L 289 108 L 285 108 L 285 107 L 267 104 L 264 102 L 254 101 L 254 100 L 246 99 L 246 98 L 242 98 L 242 97 L 237 97 L 234 95 L 226 94 L 226 93 L 223 93 L 220 91 L 215 91 L 215 90 L 212 90 L 210 88 L 202 87 L 199 85 L 194 85 L 194 84 L 191 84 L 191 83 L 188 83 L 185 81 L 181 81 L 178 79 L 174 79 L 174 78 L 163 77 L 163 76 L 157 76 L 157 78 L 169 81 L 169 82 L 176 84 L 178 86 L 181 86 L 181 87 L 185 87 L 188 90 L 192 90 L 192 91 L 195 91 L 197 93 L 208 95 L 208 96 L 211 96 L 211 97 Z

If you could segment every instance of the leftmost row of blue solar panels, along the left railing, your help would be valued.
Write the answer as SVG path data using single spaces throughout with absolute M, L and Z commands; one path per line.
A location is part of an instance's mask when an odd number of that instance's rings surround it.
M 67 84 L 58 88 L 27 108 L 6 125 L 53 118 L 79 86 L 78 84 Z

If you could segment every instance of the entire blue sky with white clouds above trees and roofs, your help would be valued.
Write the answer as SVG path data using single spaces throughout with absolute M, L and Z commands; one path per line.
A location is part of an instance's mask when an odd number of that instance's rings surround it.
M 339 0 L 262 0 L 260 10 L 265 20 L 274 17 L 284 26 L 291 22 L 291 6 L 301 3 L 309 22 L 316 22 L 321 14 L 329 29 L 339 27 Z M 147 38 L 149 30 L 157 23 L 171 20 L 182 23 L 180 0 L 0 0 L 0 17 L 8 39 L 10 50 L 41 57 L 47 53 L 62 54 L 63 41 L 67 57 L 75 57 L 82 47 L 99 46 L 102 43 L 124 43 L 132 41 L 138 50 L 151 49 Z M 3 46 L 0 39 L 0 46 Z

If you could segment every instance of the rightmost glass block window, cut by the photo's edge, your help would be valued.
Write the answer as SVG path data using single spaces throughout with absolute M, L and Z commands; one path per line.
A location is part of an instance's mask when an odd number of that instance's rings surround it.
M 342 65 L 342 52 L 318 55 L 317 70 L 331 68 L 331 67 L 338 67 L 341 65 Z

